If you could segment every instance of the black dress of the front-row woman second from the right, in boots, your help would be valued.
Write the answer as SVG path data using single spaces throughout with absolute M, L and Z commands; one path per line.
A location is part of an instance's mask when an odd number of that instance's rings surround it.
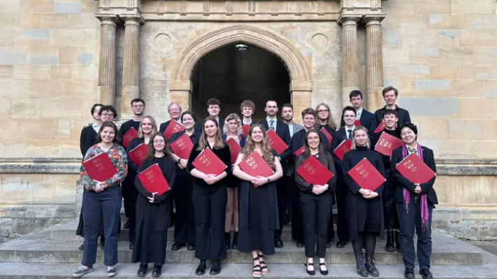
M 348 171 L 364 158 L 367 158 L 383 177 L 385 175 L 382 157 L 373 150 L 358 146 L 356 150 L 350 150 L 343 156 L 343 180 L 348 188 L 345 199 L 347 204 L 347 223 L 350 240 L 352 241 L 357 239 L 357 234 L 361 231 L 373 231 L 380 238 L 384 236 L 383 185 L 376 189 L 375 192 L 378 193 L 376 198 L 364 199 L 362 194 L 359 193 L 361 187 L 347 174 Z

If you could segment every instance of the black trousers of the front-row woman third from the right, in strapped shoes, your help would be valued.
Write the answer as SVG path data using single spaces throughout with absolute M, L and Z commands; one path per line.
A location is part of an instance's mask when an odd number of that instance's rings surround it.
M 305 257 L 326 257 L 332 197 L 328 191 L 319 195 L 301 192 Z

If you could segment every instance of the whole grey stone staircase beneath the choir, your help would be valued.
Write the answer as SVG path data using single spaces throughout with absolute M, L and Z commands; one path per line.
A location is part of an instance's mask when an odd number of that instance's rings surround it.
M 124 220 L 124 219 L 123 219 Z M 82 238 L 75 236 L 78 220 L 30 234 L 14 241 L 0 245 L 0 279 L 3 278 L 30 278 L 50 279 L 68 278 L 80 265 L 82 251 L 78 246 Z M 118 245 L 120 264 L 116 266 L 116 278 L 136 278 L 138 264 L 131 263 L 131 250 L 128 249 L 127 230 L 120 234 Z M 282 239 L 284 248 L 276 249 L 276 254 L 266 256 L 271 278 L 308 278 L 303 263 L 305 254 L 303 248 L 296 248 L 291 242 L 291 227 L 284 227 Z M 198 259 L 194 252 L 185 248 L 171 251 L 173 244 L 173 228 L 168 230 L 168 252 L 164 278 L 192 278 Z M 433 234 L 432 272 L 435 278 L 496 278 L 497 256 L 481 250 L 473 245 L 459 241 L 451 236 Z M 376 261 L 381 278 L 403 278 L 402 256 L 398 252 L 386 252 L 384 241 L 378 241 Z M 103 251 L 99 249 L 97 262 L 103 262 Z M 359 278 L 355 272 L 355 260 L 352 245 L 343 249 L 333 245 L 326 255 L 326 262 L 331 278 Z M 103 264 L 96 264 L 95 270 L 84 278 L 106 277 Z M 210 268 L 210 266 L 208 266 Z M 149 266 L 150 277 L 152 266 Z M 315 267 L 317 277 L 319 266 Z M 229 250 L 224 260 L 220 278 L 252 278 L 251 257 L 236 250 Z M 208 272 L 203 277 L 209 276 Z M 417 274 L 418 278 L 421 278 Z

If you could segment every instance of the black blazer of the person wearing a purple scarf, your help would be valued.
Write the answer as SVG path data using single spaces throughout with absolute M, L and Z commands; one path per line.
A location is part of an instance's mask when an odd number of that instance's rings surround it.
M 418 143 L 419 144 L 419 143 Z M 435 158 L 433 157 L 433 150 L 430 148 L 426 148 L 424 146 L 421 147 L 423 150 L 423 162 L 424 164 L 428 165 L 432 171 L 435 173 L 437 172 L 437 168 L 435 166 Z M 414 189 L 416 186 L 414 183 L 410 182 L 407 178 L 403 177 L 401 173 L 398 173 L 398 171 L 395 169 L 398 163 L 400 163 L 404 158 L 402 157 L 402 147 L 397 148 L 394 150 L 394 152 L 391 155 L 391 162 L 390 162 L 390 167 L 391 167 L 391 175 L 394 178 L 396 185 L 395 190 L 395 201 L 398 203 L 403 203 L 404 202 L 404 196 L 403 196 L 403 189 L 408 189 L 411 194 L 411 201 L 414 202 L 415 200 L 415 193 Z M 433 183 L 435 183 L 435 178 L 432 178 L 428 183 L 423 183 L 420 184 L 422 194 L 426 194 L 426 198 L 428 198 L 428 201 L 430 201 L 433 204 L 438 204 L 438 199 L 437 199 L 437 193 L 435 192 L 435 189 L 433 189 Z M 400 187 L 399 187 L 400 186 Z

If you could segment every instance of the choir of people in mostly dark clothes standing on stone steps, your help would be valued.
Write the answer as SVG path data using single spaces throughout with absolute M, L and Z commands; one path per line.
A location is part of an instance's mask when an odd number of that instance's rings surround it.
M 77 234 L 85 241 L 80 247 L 82 266 L 73 276 L 81 277 L 93 271 L 99 236 L 107 275 L 115 276 L 120 208 L 124 198 L 128 217 L 124 228 L 129 229 L 132 261 L 140 263 L 139 277 L 146 276 L 149 263 L 154 264 L 152 277 L 161 276 L 167 231 L 172 224 L 171 250 L 186 247 L 195 251 L 195 257 L 200 260 L 197 276 L 206 272 L 208 260 L 210 274 L 220 273 L 221 261 L 229 249 L 250 253 L 255 278 L 268 274 L 264 256 L 273 255 L 275 248 L 283 247 L 284 224 L 291 224 L 296 246 L 305 248 L 307 273 L 315 275 L 314 260 L 317 259 L 319 272 L 326 276 L 326 248 L 330 248 L 335 239 L 332 206 L 336 203 L 336 247 L 344 248 L 352 241 L 360 276 L 380 275 L 375 266 L 376 240 L 386 235 L 385 250 L 402 252 L 404 276 L 415 278 L 413 238 L 416 231 L 419 273 L 423 279 L 433 278 L 430 272 L 431 214 L 438 203 L 433 189 L 435 177 L 427 183 L 412 183 L 396 169 L 405 157 L 417 155 L 436 173 L 433 151 L 417 143 L 417 127 L 411 123 L 408 111 L 395 104 L 398 91 L 387 87 L 382 94 L 386 106 L 373 114 L 362 108 L 361 92 L 352 91 L 352 106 L 343 108 L 339 127 L 326 103 L 303 110 L 301 126 L 293 122 L 294 111 L 289 103 L 281 107 L 283 121 L 280 121 L 278 104 L 267 101 L 266 119 L 256 123 L 252 122 L 255 110 L 252 101 L 240 104 L 242 118 L 231 113 L 222 119 L 219 117 L 221 103 L 214 98 L 208 100 L 210 116 L 205 120 L 197 120 L 192 111 L 182 111 L 178 103 L 171 103 L 168 106 L 171 120 L 158 126 L 153 117 L 144 115 L 145 101 L 134 99 L 131 101 L 134 117 L 118 131 L 113 122 L 117 117 L 115 108 L 95 104 L 91 111 L 94 122 L 81 132 L 83 162 L 105 153 L 115 174 L 105 181 L 92 180 L 82 166 L 79 183 L 85 192 Z M 181 123 L 184 129 L 168 139 L 164 132 L 172 120 Z M 243 127 L 249 127 L 248 131 L 243 131 Z M 125 149 L 122 141 L 130 129 L 136 129 L 138 137 L 127 143 Z M 283 152 L 273 150 L 268 136 L 271 130 L 287 145 Z M 188 159 L 171 149 L 171 144 L 185 134 L 194 143 Z M 377 143 L 383 141 L 382 134 L 400 140 L 401 146 L 393 150 L 391 156 L 375 150 Z M 231 140 L 242 148 L 236 161 L 226 143 Z M 346 142 L 352 142 L 350 150 L 342 155 L 335 152 Z M 130 159 L 129 152 L 142 143 L 147 145 L 147 155 L 138 166 Z M 194 166 L 195 159 L 206 149 L 212 150 L 228 166 L 222 173 L 203 173 Z M 240 163 L 253 152 L 271 167 L 271 175 L 253 176 L 243 171 Z M 296 171 L 310 157 L 315 157 L 333 175 L 327 182 L 320 183 L 322 185 L 309 183 Z M 364 158 L 384 180 L 376 189 L 368 189 L 363 183 L 359 185 L 350 175 Z M 147 191 L 137 176 L 154 164 L 159 166 L 170 187 L 163 194 Z M 366 250 L 365 255 L 362 250 Z

